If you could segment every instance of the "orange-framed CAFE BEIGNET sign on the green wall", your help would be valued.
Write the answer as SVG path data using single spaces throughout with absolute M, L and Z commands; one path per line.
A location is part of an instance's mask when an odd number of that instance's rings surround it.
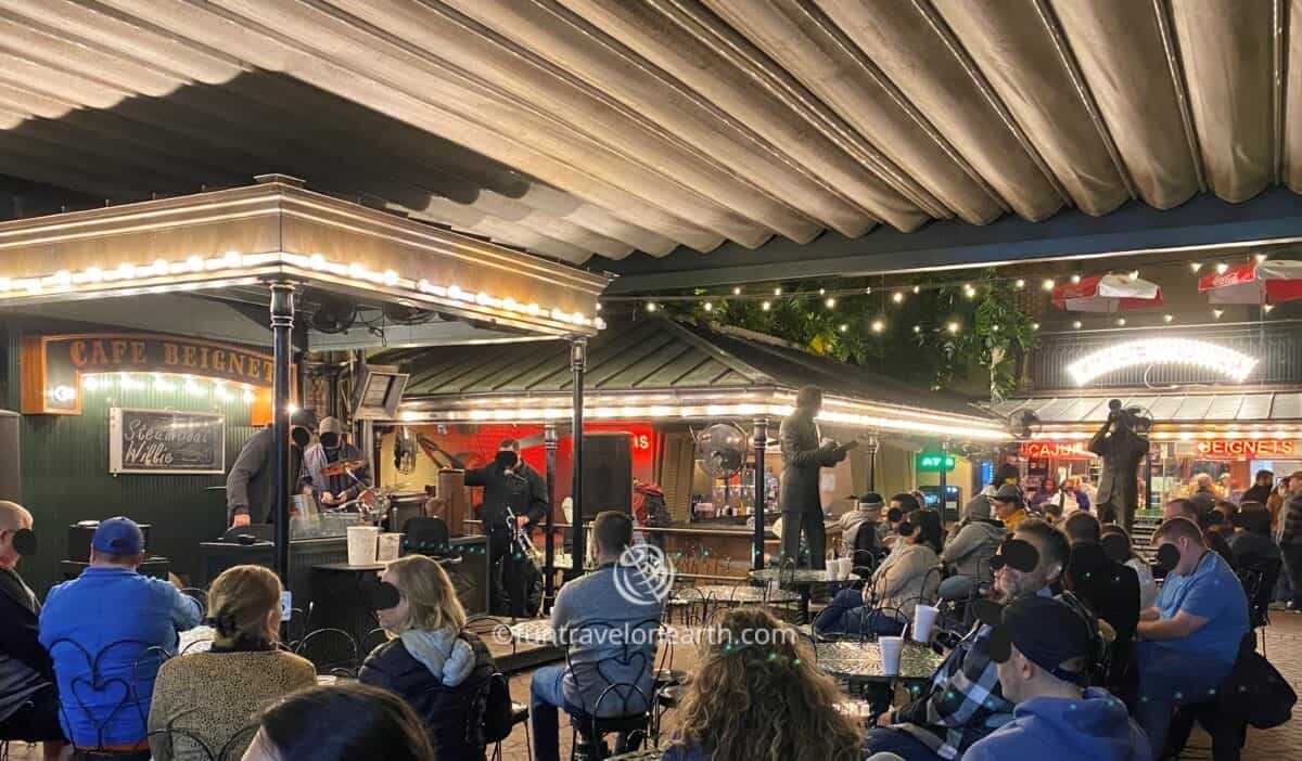
M 165 372 L 270 388 L 272 356 L 212 341 L 156 333 L 26 336 L 22 340 L 25 414 L 81 412 L 82 375 Z

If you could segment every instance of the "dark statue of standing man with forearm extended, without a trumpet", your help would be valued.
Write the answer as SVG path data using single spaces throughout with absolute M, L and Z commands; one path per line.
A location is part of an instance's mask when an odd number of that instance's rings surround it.
M 823 526 L 823 500 L 819 497 L 819 471 L 845 459 L 853 447 L 823 441 L 814 418 L 823 408 L 823 392 L 805 386 L 796 395 L 796 410 L 783 420 L 777 438 L 783 446 L 783 558 L 796 561 L 801 550 L 801 531 L 810 545 L 814 568 L 825 568 L 827 529 Z

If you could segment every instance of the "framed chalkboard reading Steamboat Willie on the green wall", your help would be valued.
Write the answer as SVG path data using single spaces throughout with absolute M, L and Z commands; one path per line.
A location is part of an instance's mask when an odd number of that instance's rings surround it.
M 173 410 L 108 411 L 108 472 L 224 474 L 227 419 Z

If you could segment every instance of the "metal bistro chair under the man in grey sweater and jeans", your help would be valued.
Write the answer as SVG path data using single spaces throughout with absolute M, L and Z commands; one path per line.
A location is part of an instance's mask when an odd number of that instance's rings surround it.
M 648 618 L 635 624 L 591 622 L 583 624 L 582 630 L 604 628 L 611 632 L 605 635 L 605 641 L 615 643 L 617 641 L 615 632 L 621 627 L 624 635 L 618 639 L 622 639 L 622 643 L 618 654 L 613 657 L 594 663 L 575 663 L 573 649 L 566 648 L 565 650 L 565 671 L 574 680 L 583 700 L 581 710 L 570 713 L 572 761 L 604 758 L 604 738 L 609 734 L 618 732 L 625 740 L 622 748 L 616 748 L 617 753 L 635 751 L 643 740 L 651 736 L 651 713 L 654 710 L 651 696 L 634 682 L 612 679 L 608 676 L 608 671 L 615 666 L 634 667 L 638 673 L 650 671 L 654 666 L 655 652 L 647 654 L 644 649 L 635 649 L 631 640 L 642 636 L 634 632 L 643 632 L 648 637 L 648 644 L 654 647 L 660 631 L 660 621 Z M 590 701 L 590 695 L 596 695 L 596 700 Z

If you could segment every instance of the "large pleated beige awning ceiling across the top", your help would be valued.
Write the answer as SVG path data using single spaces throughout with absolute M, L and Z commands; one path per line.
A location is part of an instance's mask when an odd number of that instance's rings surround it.
M 0 0 L 0 173 L 286 172 L 568 261 L 1240 202 L 1302 187 L 1290 5 Z

